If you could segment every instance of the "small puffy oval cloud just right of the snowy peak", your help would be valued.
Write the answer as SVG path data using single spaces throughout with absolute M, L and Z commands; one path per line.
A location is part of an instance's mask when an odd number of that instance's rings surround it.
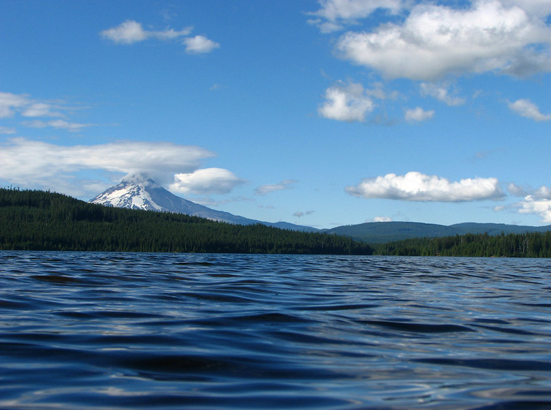
M 228 194 L 233 188 L 245 183 L 233 172 L 222 168 L 205 168 L 187 174 L 174 175 L 171 191 L 183 194 Z

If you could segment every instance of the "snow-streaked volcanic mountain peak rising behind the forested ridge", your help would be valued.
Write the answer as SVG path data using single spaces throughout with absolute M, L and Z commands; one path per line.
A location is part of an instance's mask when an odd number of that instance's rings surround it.
M 200 216 L 210 219 L 211 221 L 227 222 L 238 225 L 253 225 L 261 223 L 278 227 L 282 229 L 292 229 L 295 231 L 316 232 L 318 229 L 295 225 L 287 222 L 264 222 L 256 221 L 255 219 L 245 218 L 230 214 L 229 212 L 216 211 L 209 207 L 196 204 L 187 199 L 180 198 L 167 189 L 161 187 L 151 178 L 147 176 L 136 175 L 124 178 L 121 183 L 114 187 L 108 188 L 95 198 L 92 198 L 90 203 L 97 203 L 106 206 L 130 209 L 145 209 L 147 211 L 157 212 L 176 212 L 178 214 L 186 214 L 191 216 Z

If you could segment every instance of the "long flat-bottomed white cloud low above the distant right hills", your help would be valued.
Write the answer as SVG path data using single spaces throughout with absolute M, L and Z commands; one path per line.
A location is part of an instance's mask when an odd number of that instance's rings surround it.
M 353 196 L 400 201 L 461 202 L 503 197 L 497 178 L 468 178 L 450 182 L 446 178 L 420 172 L 365 178 L 359 185 L 346 187 L 345 190 Z

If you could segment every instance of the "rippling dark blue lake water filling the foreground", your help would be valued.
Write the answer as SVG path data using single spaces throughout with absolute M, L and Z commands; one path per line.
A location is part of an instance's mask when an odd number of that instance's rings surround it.
M 551 409 L 551 260 L 0 252 L 3 409 Z

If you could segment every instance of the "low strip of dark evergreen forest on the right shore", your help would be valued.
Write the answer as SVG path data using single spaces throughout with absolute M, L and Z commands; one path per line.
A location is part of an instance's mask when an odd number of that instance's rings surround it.
M 380 255 L 551 258 L 551 231 L 413 238 L 374 246 Z

